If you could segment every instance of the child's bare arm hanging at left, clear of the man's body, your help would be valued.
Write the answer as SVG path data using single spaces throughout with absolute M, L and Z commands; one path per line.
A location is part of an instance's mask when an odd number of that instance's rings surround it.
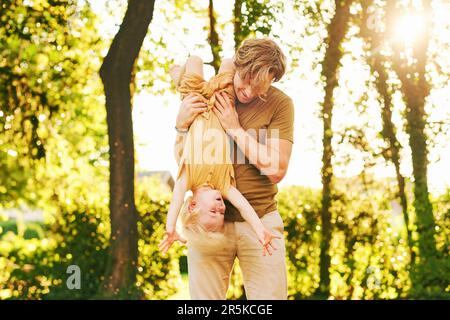
M 173 188 L 172 201 L 170 202 L 169 212 L 167 213 L 166 237 L 159 244 L 159 250 L 162 251 L 162 253 L 166 253 L 172 243 L 177 240 L 183 243 L 186 242 L 186 240 L 180 237 L 176 231 L 178 214 L 180 213 L 181 206 L 184 202 L 184 195 L 187 191 L 186 189 L 186 171 L 183 169 Z

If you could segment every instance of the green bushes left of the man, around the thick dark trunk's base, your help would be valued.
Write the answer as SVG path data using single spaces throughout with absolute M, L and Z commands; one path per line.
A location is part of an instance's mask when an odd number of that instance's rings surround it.
M 162 256 L 157 248 L 170 201 L 170 191 L 161 190 L 157 179 L 139 181 L 139 290 L 127 299 L 164 299 L 176 292 L 181 281 L 180 249 Z M 0 299 L 89 299 L 98 294 L 108 255 L 108 209 L 102 204 L 93 208 L 60 201 L 58 211 L 42 239 L 24 239 L 11 230 L 1 237 Z M 66 286 L 69 265 L 80 267 L 79 290 Z

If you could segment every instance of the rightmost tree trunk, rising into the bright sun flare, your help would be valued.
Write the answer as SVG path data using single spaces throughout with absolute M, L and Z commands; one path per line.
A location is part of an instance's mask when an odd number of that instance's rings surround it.
M 416 35 L 412 44 L 412 62 L 402 57 L 407 47 L 399 42 L 392 42 L 392 66 L 401 82 L 401 91 L 406 105 L 407 131 L 409 146 L 411 148 L 413 176 L 414 176 L 414 202 L 416 213 L 417 233 L 419 236 L 419 254 L 422 265 L 426 265 L 432 257 L 437 256 L 435 234 L 435 221 L 433 208 L 428 193 L 428 150 L 425 134 L 426 113 L 425 99 L 429 94 L 429 85 L 425 78 L 427 63 L 427 50 L 431 30 L 431 3 L 422 1 L 424 27 Z M 396 1 L 388 1 L 387 29 L 394 30 L 395 13 L 400 9 L 395 7 Z

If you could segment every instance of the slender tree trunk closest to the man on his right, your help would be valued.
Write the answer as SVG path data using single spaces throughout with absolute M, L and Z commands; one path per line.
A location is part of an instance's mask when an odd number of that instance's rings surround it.
M 330 241 L 331 241 L 331 198 L 333 167 L 331 159 L 333 148 L 331 145 L 332 116 L 333 116 L 333 91 L 338 85 L 337 73 L 339 62 L 342 58 L 341 43 L 345 37 L 350 17 L 349 7 L 352 0 L 335 0 L 335 14 L 328 25 L 327 49 L 322 62 L 322 76 L 325 83 L 325 98 L 322 105 L 323 116 L 323 156 L 322 156 L 322 239 L 320 245 L 320 285 L 317 294 L 327 298 L 330 294 Z

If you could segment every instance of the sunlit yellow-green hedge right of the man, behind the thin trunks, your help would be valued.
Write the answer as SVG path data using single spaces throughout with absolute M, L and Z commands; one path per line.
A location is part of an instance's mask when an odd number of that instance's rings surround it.
M 449 236 L 448 217 L 444 219 L 449 213 L 448 195 L 433 202 L 443 257 L 428 264 L 427 270 L 410 270 L 401 212 L 391 209 L 395 185 L 373 183 L 367 188 L 355 180 L 340 180 L 338 186 L 345 193 L 334 195 L 331 208 L 331 298 L 448 299 L 449 260 L 444 255 Z M 290 186 L 277 198 L 285 225 L 289 299 L 321 298 L 314 295 L 319 285 L 320 191 Z M 433 274 L 434 283 L 427 285 L 418 278 L 413 280 L 421 287 L 411 287 L 410 278 L 423 274 Z M 228 298 L 242 299 L 243 294 L 242 277 L 239 271 L 233 271 Z

